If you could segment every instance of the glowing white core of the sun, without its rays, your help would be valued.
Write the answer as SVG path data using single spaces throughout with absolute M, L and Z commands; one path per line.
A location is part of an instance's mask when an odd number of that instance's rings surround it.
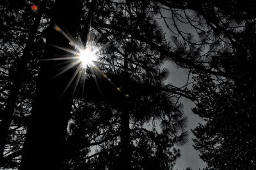
M 93 61 L 97 61 L 97 51 L 91 48 L 86 48 L 84 50 L 79 50 L 79 61 L 83 67 L 92 66 Z

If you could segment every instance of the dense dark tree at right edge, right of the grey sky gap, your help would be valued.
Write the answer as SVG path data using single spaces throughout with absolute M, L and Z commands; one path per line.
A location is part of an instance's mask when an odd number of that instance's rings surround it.
M 252 31 L 250 37 L 247 31 Z M 246 33 L 247 32 L 247 33 Z M 237 52 L 223 52 L 223 67 L 236 73 L 236 79 L 212 79 L 200 75 L 195 93 L 200 102 L 193 110 L 207 123 L 193 130 L 195 148 L 212 169 L 253 169 L 255 167 L 255 78 L 251 65 L 255 63 L 251 48 L 255 29 L 246 27 L 241 33 Z M 248 43 L 250 42 L 250 43 Z M 224 56 L 225 54 L 225 56 Z M 232 56 L 232 58 L 230 58 Z M 246 67 L 244 67 L 246 66 Z

